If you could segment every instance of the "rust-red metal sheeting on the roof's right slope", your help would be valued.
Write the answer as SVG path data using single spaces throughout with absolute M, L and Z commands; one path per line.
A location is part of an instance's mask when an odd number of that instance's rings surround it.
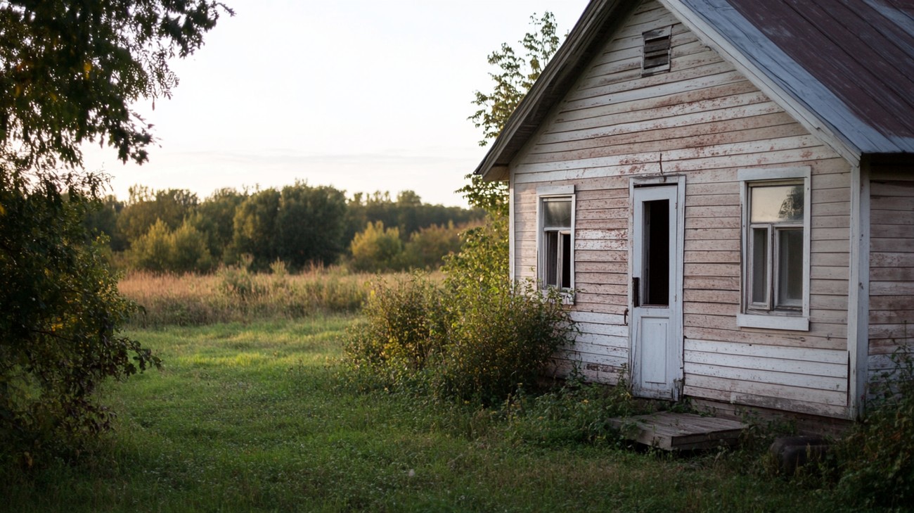
M 861 123 L 888 139 L 914 137 L 914 2 L 727 1 Z M 803 84 L 784 80 L 802 98 Z M 818 111 L 814 102 L 810 107 Z M 864 152 L 891 149 L 859 146 Z

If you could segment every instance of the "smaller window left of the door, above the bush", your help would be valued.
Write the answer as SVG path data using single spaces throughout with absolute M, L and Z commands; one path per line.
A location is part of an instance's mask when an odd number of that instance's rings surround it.
M 543 287 L 574 288 L 573 187 L 544 187 L 539 194 L 539 272 Z

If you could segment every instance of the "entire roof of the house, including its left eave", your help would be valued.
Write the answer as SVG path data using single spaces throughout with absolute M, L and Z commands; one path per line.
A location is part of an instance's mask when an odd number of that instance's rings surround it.
M 914 154 L 914 0 L 660 0 L 860 155 Z M 499 179 L 637 0 L 591 0 L 475 174 Z M 758 85 L 758 84 L 757 84 Z M 493 170 L 499 170 L 493 172 Z

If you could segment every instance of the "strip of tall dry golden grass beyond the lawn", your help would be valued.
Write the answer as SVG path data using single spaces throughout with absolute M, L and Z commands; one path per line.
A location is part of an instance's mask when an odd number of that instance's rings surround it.
M 202 275 L 127 273 L 120 289 L 143 307 L 132 327 L 202 326 L 354 313 L 374 277 L 337 268 L 291 274 L 282 266 L 273 273 L 228 267 Z

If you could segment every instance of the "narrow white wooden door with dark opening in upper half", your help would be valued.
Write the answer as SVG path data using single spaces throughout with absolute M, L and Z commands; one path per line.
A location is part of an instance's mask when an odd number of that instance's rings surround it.
M 676 400 L 682 383 L 681 186 L 632 187 L 632 391 Z

